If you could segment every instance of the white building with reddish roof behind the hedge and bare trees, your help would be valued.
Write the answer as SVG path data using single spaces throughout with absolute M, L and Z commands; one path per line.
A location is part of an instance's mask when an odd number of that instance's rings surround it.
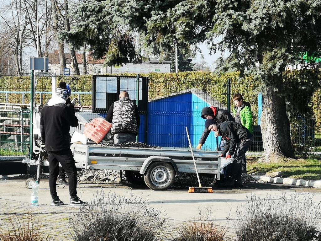
M 74 69 L 71 64 L 70 53 L 66 53 L 67 68 L 70 68 L 70 75 L 74 75 Z M 60 74 L 60 61 L 58 50 L 53 53 L 48 53 L 49 58 L 49 72 Z M 79 72 L 83 72 L 83 54 L 76 53 Z M 103 66 L 104 59 L 95 60 L 91 54 L 87 55 L 87 74 L 121 74 L 121 73 L 169 73 L 170 61 L 158 62 L 157 60 L 145 61 L 140 64 L 127 63 L 123 66 Z M 62 73 L 61 73 L 62 74 Z

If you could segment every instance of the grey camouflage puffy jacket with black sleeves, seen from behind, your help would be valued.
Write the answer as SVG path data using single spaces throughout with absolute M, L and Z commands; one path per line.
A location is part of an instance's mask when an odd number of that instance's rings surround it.
M 113 124 L 111 134 L 138 133 L 140 116 L 137 105 L 128 97 L 115 101 L 108 110 L 106 121 Z

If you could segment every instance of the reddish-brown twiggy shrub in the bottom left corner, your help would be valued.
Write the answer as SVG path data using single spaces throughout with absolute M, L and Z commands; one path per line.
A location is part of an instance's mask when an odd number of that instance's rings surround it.
M 34 220 L 32 213 L 10 215 L 7 225 L 0 227 L 0 241 L 52 241 L 51 233 L 41 233 L 41 220 Z

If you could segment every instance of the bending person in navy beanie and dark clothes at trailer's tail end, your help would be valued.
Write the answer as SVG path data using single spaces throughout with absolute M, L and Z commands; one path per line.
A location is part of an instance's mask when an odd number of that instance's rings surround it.
M 229 165 L 230 167 L 228 166 L 229 168 L 226 168 L 224 177 L 227 183 L 232 184 L 234 182 L 235 187 L 241 187 L 242 160 L 253 140 L 252 134 L 244 126 L 233 121 L 225 121 L 220 126 L 217 126 L 215 120 L 208 119 L 205 121 L 205 127 L 209 130 L 217 131 L 226 141 L 221 156 L 226 155 L 226 158 L 233 156 L 235 160 Z

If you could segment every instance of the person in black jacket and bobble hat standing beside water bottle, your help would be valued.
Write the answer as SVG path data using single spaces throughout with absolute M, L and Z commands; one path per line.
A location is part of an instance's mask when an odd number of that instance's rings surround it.
M 84 204 L 77 197 L 77 170 L 75 160 L 70 150 L 70 126 L 78 126 L 74 105 L 70 101 L 70 92 L 65 82 L 61 82 L 56 93 L 41 110 L 40 132 L 42 142 L 46 145 L 49 161 L 49 188 L 51 205 L 63 205 L 56 192 L 56 181 L 59 174 L 58 164 L 65 169 L 68 175 L 70 205 Z

